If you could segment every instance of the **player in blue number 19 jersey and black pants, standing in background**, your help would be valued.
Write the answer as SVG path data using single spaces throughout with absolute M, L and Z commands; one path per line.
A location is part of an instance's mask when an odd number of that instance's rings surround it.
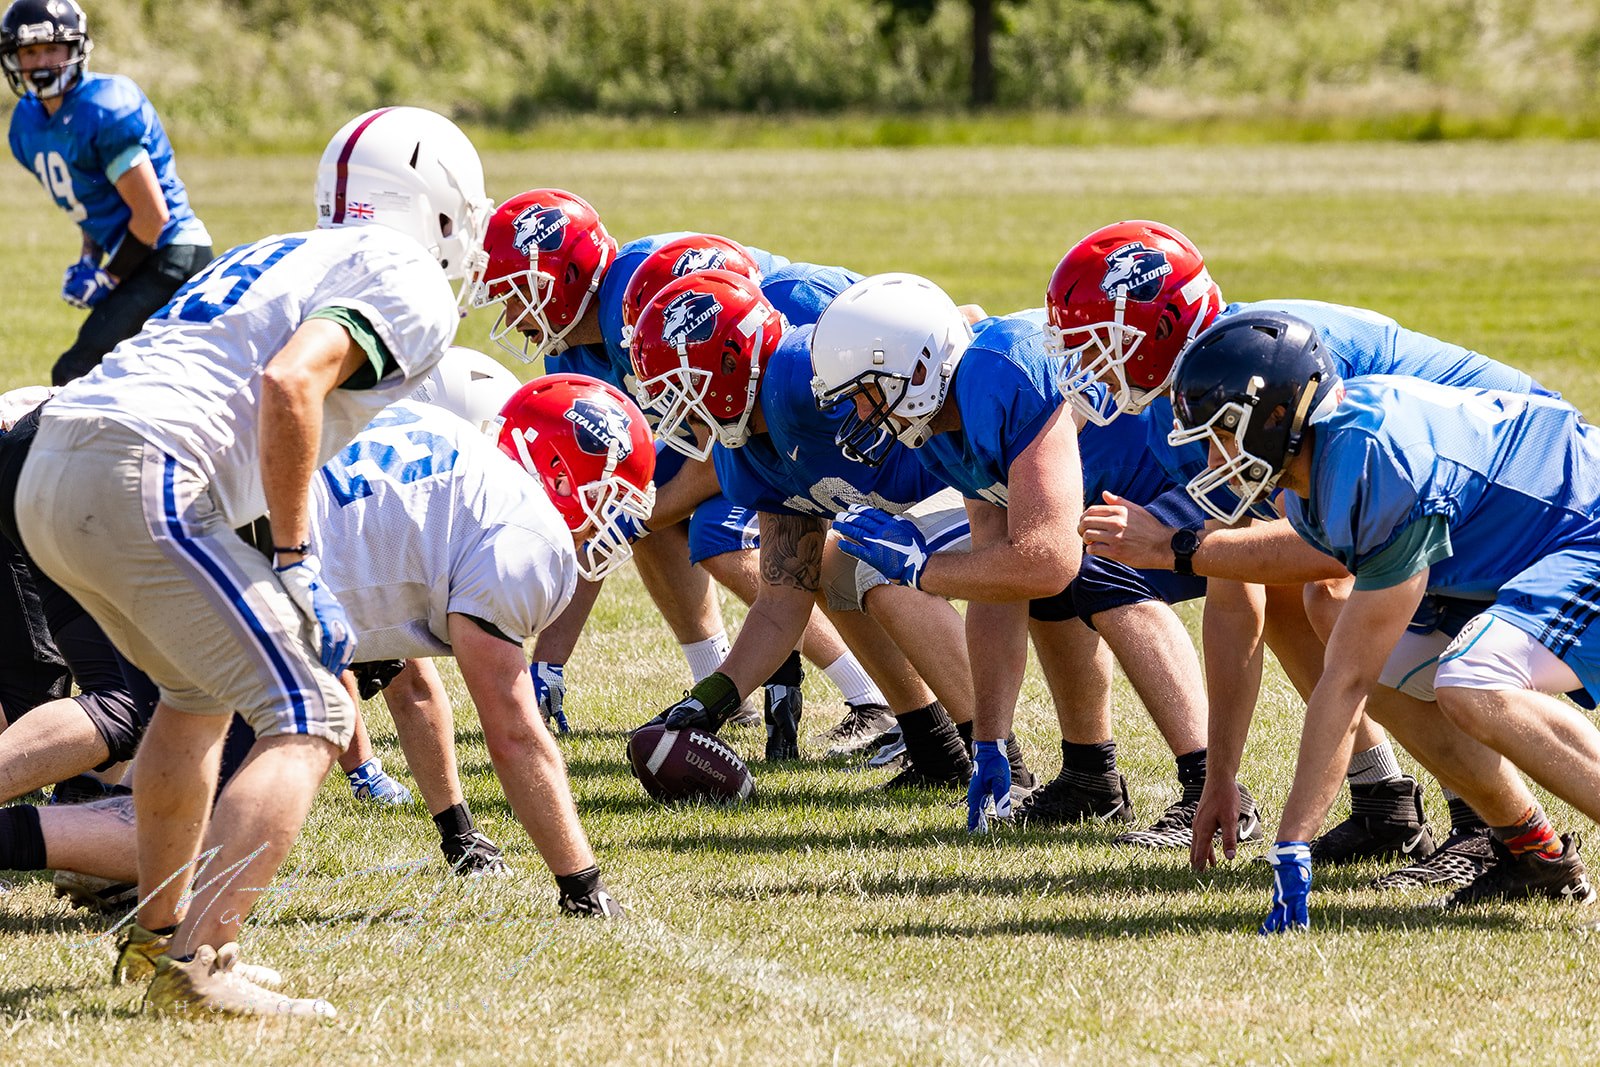
M 0 16 L 0 69 L 22 98 L 11 155 L 83 232 L 61 298 L 90 314 L 50 373 L 58 386 L 86 374 L 211 261 L 162 120 L 138 85 L 86 69 L 93 48 L 77 0 L 14 0 Z

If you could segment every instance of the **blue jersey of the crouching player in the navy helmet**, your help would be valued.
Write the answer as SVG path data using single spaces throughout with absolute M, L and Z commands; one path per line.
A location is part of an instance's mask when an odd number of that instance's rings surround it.
M 1288 518 L 1358 587 L 1430 566 L 1427 592 L 1493 600 L 1550 552 L 1600 545 L 1600 430 L 1560 400 L 1357 378 L 1312 426 L 1310 499 L 1285 493 Z

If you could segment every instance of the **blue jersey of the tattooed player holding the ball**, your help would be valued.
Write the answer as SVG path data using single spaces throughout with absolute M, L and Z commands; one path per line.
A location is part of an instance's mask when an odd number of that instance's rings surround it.
M 811 326 L 792 328 L 762 371 L 765 434 L 739 448 L 712 448 L 723 496 L 741 507 L 832 518 L 853 504 L 902 512 L 939 490 L 909 448 L 891 445 L 882 466 L 845 459 L 838 430 L 848 405 L 818 411 L 811 395 Z

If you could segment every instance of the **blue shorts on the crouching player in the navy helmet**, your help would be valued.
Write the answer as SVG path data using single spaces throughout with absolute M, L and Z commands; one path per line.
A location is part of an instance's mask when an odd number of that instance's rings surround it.
M 1554 552 L 1501 585 L 1488 613 L 1510 622 L 1566 664 L 1600 697 L 1600 545 Z

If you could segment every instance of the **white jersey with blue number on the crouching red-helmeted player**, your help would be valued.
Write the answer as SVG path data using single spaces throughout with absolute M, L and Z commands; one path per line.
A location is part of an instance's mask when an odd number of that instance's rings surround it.
M 448 656 L 451 611 L 525 641 L 578 585 L 573 537 L 539 482 L 466 419 L 413 400 L 312 478 L 312 545 L 358 661 Z

